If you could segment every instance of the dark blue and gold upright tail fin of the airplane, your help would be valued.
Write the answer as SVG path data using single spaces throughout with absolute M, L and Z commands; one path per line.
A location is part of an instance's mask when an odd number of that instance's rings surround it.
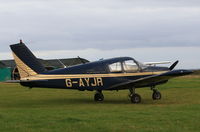
M 10 48 L 13 52 L 20 78 L 34 76 L 46 71 L 44 66 L 21 41 L 18 44 L 10 45 Z

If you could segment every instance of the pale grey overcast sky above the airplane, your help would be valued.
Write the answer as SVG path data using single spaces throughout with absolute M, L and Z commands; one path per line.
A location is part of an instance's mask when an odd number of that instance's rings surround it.
M 131 56 L 200 68 L 199 0 L 0 0 L 0 59 L 19 39 L 40 58 Z

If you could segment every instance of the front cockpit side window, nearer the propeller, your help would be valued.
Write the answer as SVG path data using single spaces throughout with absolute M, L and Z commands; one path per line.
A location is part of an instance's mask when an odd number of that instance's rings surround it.
M 139 70 L 138 65 L 133 60 L 124 61 L 123 68 L 125 72 L 137 72 Z

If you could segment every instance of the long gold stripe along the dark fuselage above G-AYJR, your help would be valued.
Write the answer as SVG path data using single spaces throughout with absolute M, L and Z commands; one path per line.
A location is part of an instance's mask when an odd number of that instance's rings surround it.
M 108 73 L 108 74 L 66 74 L 66 75 L 45 75 L 37 74 L 22 78 L 21 80 L 53 80 L 53 79 L 73 79 L 73 78 L 95 78 L 95 77 L 128 77 L 128 76 L 144 76 L 144 75 L 157 75 L 167 71 L 159 72 L 138 72 L 138 73 Z

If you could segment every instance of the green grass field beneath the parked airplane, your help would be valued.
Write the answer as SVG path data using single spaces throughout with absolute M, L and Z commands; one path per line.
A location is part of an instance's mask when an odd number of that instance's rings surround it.
M 199 132 L 200 77 L 158 88 L 162 100 L 138 89 L 142 103 L 131 104 L 128 90 L 105 91 L 105 101 L 97 103 L 94 92 L 0 84 L 0 132 Z

